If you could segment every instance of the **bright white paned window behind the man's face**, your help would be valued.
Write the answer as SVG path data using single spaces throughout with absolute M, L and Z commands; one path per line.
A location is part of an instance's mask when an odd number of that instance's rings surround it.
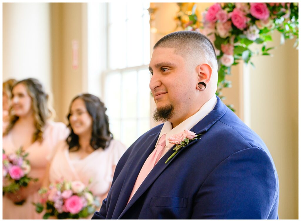
M 150 129 L 149 3 L 107 3 L 104 101 L 114 138 L 130 146 Z

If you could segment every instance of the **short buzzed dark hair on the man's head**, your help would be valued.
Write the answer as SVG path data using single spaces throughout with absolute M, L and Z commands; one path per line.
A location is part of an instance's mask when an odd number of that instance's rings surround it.
M 175 53 L 183 57 L 191 56 L 205 60 L 217 71 L 217 58 L 212 42 L 203 34 L 196 31 L 172 32 L 161 38 L 153 50 L 175 48 Z

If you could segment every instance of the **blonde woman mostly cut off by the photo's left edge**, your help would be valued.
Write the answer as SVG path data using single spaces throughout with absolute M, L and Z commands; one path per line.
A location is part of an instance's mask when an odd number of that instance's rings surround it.
M 9 79 L 2 83 L 2 132 L 5 131 L 9 123 L 9 107 L 11 105 L 11 89 L 17 81 L 15 79 Z

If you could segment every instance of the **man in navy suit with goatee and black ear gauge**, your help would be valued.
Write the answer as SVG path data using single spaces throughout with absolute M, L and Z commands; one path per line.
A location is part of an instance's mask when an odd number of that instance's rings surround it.
M 278 219 L 268 148 L 219 97 L 212 43 L 173 32 L 149 65 L 156 121 L 119 160 L 92 219 Z M 196 136 L 198 135 L 198 136 Z

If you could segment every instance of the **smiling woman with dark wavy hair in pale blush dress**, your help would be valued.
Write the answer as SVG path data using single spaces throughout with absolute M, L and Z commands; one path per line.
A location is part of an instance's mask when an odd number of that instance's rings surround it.
M 87 186 L 91 178 L 89 187 L 100 203 L 107 197 L 116 164 L 126 146 L 113 139 L 106 110 L 104 103 L 92 94 L 80 94 L 72 100 L 67 116 L 71 133 L 56 147 L 48 183 L 64 178 L 80 180 Z

